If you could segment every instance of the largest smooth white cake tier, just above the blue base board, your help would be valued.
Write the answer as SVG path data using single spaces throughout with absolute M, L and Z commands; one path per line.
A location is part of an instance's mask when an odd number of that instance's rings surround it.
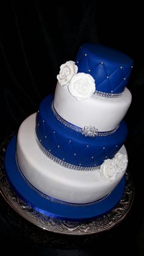
M 35 118 L 36 113 L 21 124 L 16 145 L 21 172 L 35 188 L 65 202 L 89 203 L 107 196 L 117 186 L 124 172 L 106 181 L 99 170 L 71 170 L 49 159 L 35 140 Z M 124 145 L 120 152 L 127 155 Z

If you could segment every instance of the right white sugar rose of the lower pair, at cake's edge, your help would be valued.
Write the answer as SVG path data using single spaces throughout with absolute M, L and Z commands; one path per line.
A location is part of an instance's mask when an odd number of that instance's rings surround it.
M 124 170 L 126 170 L 126 167 L 128 165 L 128 157 L 127 157 L 127 155 L 124 155 L 124 154 L 118 152 L 115 155 L 114 161 L 115 161 L 115 164 L 117 166 L 117 171 L 118 172 L 120 172 L 120 171 L 124 172 Z

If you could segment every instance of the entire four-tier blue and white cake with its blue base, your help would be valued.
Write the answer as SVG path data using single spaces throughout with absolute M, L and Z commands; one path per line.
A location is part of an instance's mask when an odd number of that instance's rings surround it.
M 5 153 L 7 178 L 32 208 L 79 220 L 107 213 L 120 201 L 132 65 L 126 54 L 85 43 L 75 62 L 60 66 L 54 95 L 24 120 Z

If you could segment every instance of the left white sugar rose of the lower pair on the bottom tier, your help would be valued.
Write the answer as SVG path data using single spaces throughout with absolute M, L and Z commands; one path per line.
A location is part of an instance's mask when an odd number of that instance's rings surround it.
M 101 178 L 106 181 L 113 181 L 117 176 L 117 166 L 113 159 L 104 160 L 104 163 L 101 165 L 99 170 Z

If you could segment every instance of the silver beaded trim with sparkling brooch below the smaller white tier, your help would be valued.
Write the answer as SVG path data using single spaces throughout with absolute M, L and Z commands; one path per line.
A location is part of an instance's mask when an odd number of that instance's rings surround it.
M 54 108 L 54 102 L 52 101 L 51 104 L 51 108 L 52 108 L 52 112 L 54 113 L 55 117 L 57 120 L 59 120 L 60 123 L 62 123 L 63 125 L 67 126 L 68 128 L 77 131 L 81 134 L 83 134 L 84 136 L 88 136 L 88 137 L 101 137 L 101 136 L 108 136 L 112 133 L 115 133 L 115 131 L 117 131 L 119 125 L 112 131 L 98 131 L 95 126 L 84 126 L 84 128 L 80 128 L 76 125 L 72 125 L 71 123 L 67 122 L 65 119 L 63 119 L 62 117 L 60 117 L 60 115 L 56 112 L 56 109 Z

